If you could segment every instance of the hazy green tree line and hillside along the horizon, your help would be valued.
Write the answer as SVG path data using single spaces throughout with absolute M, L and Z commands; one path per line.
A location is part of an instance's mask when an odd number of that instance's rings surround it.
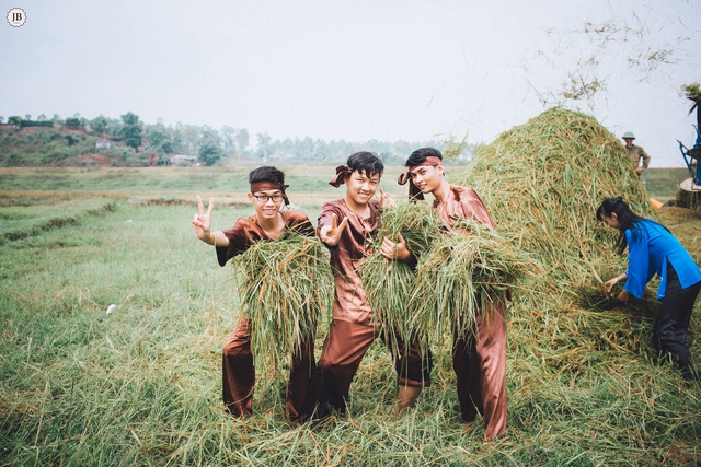
M 0 117 L 0 124 L 4 118 Z M 27 127 L 39 127 L 26 131 Z M 46 127 L 46 128 L 43 128 Z M 102 144 L 99 143 L 102 142 Z M 113 166 L 168 165 L 175 154 L 196 157 L 203 165 L 237 162 L 285 164 L 341 164 L 356 151 L 374 151 L 387 164 L 401 164 L 409 153 L 423 145 L 449 150 L 446 141 L 325 141 L 306 137 L 272 139 L 267 132 L 254 138 L 245 128 L 177 122 L 145 124 L 128 112 L 120 118 L 100 115 L 91 120 L 80 114 L 61 119 L 58 115 L 35 120 L 31 115 L 11 116 L 0 130 L 1 166 L 82 166 L 94 164 L 94 154 Z M 458 163 L 470 160 L 472 147 L 459 145 Z M 91 157 L 92 155 L 92 157 Z M 102 161 L 104 163 L 105 161 Z

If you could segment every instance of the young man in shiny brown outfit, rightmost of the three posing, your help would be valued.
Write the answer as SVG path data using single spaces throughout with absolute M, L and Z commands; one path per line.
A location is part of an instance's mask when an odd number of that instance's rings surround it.
M 433 207 L 448 230 L 459 229 L 464 221 L 476 221 L 494 229 L 479 195 L 471 188 L 448 183 L 440 151 L 418 149 L 404 165 L 409 170 L 400 176 L 399 184 L 410 183 L 410 199 L 423 200 L 424 194 L 432 194 L 435 198 Z M 481 310 L 473 318 L 472 332 L 463 332 L 461 324 L 452 323 L 452 367 L 462 421 L 471 423 L 478 411 L 482 413 L 484 439 L 490 441 L 506 431 L 506 311 L 501 302 L 479 299 L 476 306 Z

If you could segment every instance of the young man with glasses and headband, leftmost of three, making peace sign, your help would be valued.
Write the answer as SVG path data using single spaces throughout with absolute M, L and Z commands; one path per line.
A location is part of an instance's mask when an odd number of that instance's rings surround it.
M 238 219 L 233 226 L 226 231 L 211 232 L 211 212 L 215 200 L 209 200 L 205 213 L 203 201 L 197 196 L 199 213 L 195 214 L 193 225 L 197 238 L 214 245 L 219 266 L 261 241 L 274 241 L 284 233 L 292 231 L 301 235 L 313 236 L 314 229 L 307 215 L 295 211 L 280 211 L 283 203 L 288 205 L 285 189 L 285 174 L 271 166 L 263 166 L 249 174 L 251 192 L 249 200 L 253 203 L 255 214 Z M 255 272 L 253 272 L 255 273 Z M 223 404 L 234 417 L 248 418 L 252 412 L 255 367 L 251 351 L 252 320 L 243 315 L 237 324 L 222 352 Z M 292 363 L 287 386 L 285 413 L 290 420 L 303 421 L 313 410 L 313 394 L 310 384 L 314 369 L 314 337 L 312 330 L 303 336 L 295 346 Z

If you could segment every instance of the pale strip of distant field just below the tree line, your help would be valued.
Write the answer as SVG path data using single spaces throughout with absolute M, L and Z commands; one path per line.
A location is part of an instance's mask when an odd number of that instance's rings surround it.
M 0 168 L 0 191 L 87 191 L 112 197 L 192 199 L 202 195 L 226 201 L 245 201 L 248 174 L 241 167 L 142 167 L 142 168 Z M 290 185 L 294 203 L 320 205 L 340 196 L 329 186 L 333 166 L 280 166 Z M 452 170 L 448 167 L 448 176 Z M 406 192 L 397 185 L 401 166 L 386 168 L 381 187 L 393 196 Z M 650 168 L 641 180 L 653 197 L 674 198 L 679 183 L 688 178 L 686 168 Z

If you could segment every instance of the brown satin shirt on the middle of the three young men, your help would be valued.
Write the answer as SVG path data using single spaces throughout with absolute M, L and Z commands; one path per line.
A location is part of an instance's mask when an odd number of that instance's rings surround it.
M 321 208 L 318 232 L 331 224 L 331 214 L 336 214 L 337 222 L 348 219 L 348 225 L 341 235 L 336 246 L 330 247 L 331 267 L 336 293 L 333 302 L 333 318 L 342 322 L 370 325 L 372 310 L 365 294 L 360 277 L 356 270 L 358 262 L 372 254 L 371 237 L 380 226 L 380 211 L 377 200 L 370 200 L 370 215 L 361 219 L 344 199 L 326 202 Z

